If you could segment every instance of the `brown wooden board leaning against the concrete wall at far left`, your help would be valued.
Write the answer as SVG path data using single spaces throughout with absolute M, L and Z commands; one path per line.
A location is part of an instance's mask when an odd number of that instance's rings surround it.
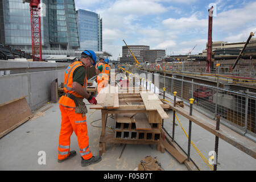
M 0 106 L 0 138 L 32 118 L 25 97 L 20 97 Z

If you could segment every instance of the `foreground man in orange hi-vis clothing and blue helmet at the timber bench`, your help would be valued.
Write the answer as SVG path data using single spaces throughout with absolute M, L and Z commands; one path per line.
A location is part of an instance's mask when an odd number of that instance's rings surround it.
M 80 148 L 81 166 L 88 166 L 100 162 L 101 156 L 93 156 L 89 150 L 89 139 L 87 134 L 85 103 L 86 98 L 90 104 L 97 104 L 96 99 L 86 92 L 87 77 L 86 68 L 96 65 L 96 54 L 91 50 L 82 52 L 81 58 L 73 62 L 64 74 L 64 92 L 59 104 L 61 111 L 61 127 L 59 135 L 58 162 L 63 162 L 76 155 L 76 151 L 69 151 L 70 137 L 73 133 L 77 135 Z

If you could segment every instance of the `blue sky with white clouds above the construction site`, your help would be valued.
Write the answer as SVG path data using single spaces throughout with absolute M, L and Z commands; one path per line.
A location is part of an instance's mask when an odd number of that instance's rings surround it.
M 129 45 L 165 49 L 166 55 L 201 53 L 208 40 L 208 9 L 214 6 L 212 40 L 246 42 L 256 31 L 256 1 L 75 0 L 76 9 L 100 14 L 102 51 L 117 60 Z M 210 5 L 210 6 L 209 6 Z M 216 14 L 215 14 L 216 13 Z

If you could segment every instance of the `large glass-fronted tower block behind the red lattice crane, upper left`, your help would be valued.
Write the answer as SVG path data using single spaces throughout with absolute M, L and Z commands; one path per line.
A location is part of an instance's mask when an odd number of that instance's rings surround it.
M 43 49 L 78 49 L 74 0 L 41 0 Z M 22 0 L 0 0 L 0 43 L 31 49 L 30 5 Z

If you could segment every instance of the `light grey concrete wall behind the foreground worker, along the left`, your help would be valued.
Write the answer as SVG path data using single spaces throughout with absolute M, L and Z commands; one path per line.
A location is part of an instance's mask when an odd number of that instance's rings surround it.
M 2 61 L 0 71 L 10 70 L 11 75 L 0 76 L 0 104 L 27 96 L 31 110 L 51 101 L 51 82 L 64 82 L 64 71 L 69 63 Z

